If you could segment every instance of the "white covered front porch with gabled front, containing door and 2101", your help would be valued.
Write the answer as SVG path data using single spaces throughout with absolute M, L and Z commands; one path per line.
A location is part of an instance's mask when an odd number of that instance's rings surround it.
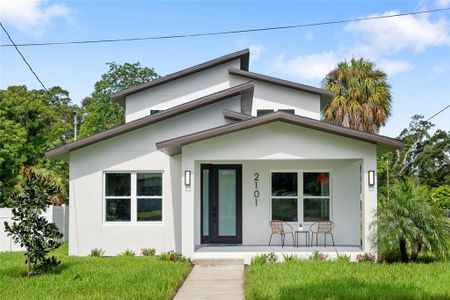
M 372 250 L 377 192 L 368 179 L 376 170 L 375 144 L 276 122 L 175 150 L 184 175 L 184 255 L 248 260 L 272 251 L 309 256 L 323 250 L 332 257 Z M 326 248 L 289 248 L 290 237 L 282 248 L 279 236 L 269 247 L 272 220 L 305 231 L 331 221 L 335 247 L 330 236 Z

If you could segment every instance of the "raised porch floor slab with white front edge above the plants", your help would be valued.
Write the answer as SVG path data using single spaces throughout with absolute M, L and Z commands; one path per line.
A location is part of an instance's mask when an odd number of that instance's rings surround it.
M 356 255 L 364 252 L 360 246 L 312 246 L 293 247 L 287 245 L 198 245 L 195 249 L 193 259 L 243 259 L 245 264 L 249 264 L 252 257 L 274 252 L 280 260 L 283 254 L 297 255 L 300 258 L 308 258 L 314 251 L 319 251 L 328 255 L 329 258 L 336 258 L 337 255 L 350 256 L 351 260 L 356 259 Z

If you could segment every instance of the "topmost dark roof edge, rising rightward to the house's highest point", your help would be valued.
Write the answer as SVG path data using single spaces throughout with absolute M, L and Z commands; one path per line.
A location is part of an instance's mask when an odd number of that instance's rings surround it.
M 195 74 L 197 72 L 200 72 L 200 71 L 203 71 L 203 70 L 236 60 L 236 59 L 240 59 L 241 69 L 248 71 L 249 60 L 250 60 L 250 50 L 244 49 L 241 51 L 237 51 L 234 53 L 230 53 L 230 54 L 215 58 L 213 60 L 201 63 L 199 65 L 163 76 L 161 78 L 149 81 L 147 83 L 144 83 L 144 84 L 141 84 L 141 85 L 129 88 L 129 89 L 122 90 L 120 92 L 117 92 L 117 93 L 111 95 L 111 97 L 113 99 L 115 99 L 120 105 L 124 106 L 124 103 L 125 103 L 124 99 L 126 96 L 132 95 L 134 93 L 137 93 L 137 92 L 140 92 L 140 91 L 143 91 L 143 90 L 146 90 L 146 89 L 149 89 L 149 88 L 152 88 L 152 87 L 164 84 L 164 83 L 168 83 L 168 82 L 177 80 L 179 78 L 182 78 L 182 77 L 185 77 L 188 75 Z

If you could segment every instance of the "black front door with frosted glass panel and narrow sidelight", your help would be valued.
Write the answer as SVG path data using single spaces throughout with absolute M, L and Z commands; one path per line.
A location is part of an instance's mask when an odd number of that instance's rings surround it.
M 203 244 L 242 243 L 242 166 L 201 165 Z

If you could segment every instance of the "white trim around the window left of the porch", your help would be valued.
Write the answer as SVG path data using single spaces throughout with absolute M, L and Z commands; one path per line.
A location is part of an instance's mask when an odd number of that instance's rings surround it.
M 130 196 L 106 196 L 106 174 L 110 173 L 126 173 L 131 174 L 131 195 Z M 161 196 L 137 196 L 137 174 L 138 173 L 157 173 L 161 174 Z M 162 170 L 133 170 L 133 171 L 115 171 L 115 170 L 107 170 L 103 171 L 102 174 L 102 214 L 103 214 L 103 224 L 104 225 L 163 225 L 164 224 L 164 212 L 165 212 L 165 205 L 164 205 L 164 171 Z M 106 220 L 106 200 L 107 199 L 131 199 L 131 205 L 130 205 L 130 221 L 107 221 Z M 145 199 L 161 199 L 161 221 L 138 221 L 137 220 L 137 199 L 139 198 L 145 198 Z

